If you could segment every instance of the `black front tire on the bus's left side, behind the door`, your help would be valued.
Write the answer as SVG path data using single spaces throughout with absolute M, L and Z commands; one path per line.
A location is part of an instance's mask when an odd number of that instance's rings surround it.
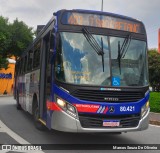
M 33 117 L 34 117 L 35 127 L 40 131 L 44 131 L 46 129 L 46 127 L 39 121 L 39 108 L 38 108 L 37 104 L 34 105 L 33 110 L 34 110 Z

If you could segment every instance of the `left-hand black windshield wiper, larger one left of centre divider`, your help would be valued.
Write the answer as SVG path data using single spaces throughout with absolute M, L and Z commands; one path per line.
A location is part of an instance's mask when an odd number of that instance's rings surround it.
M 103 39 L 101 37 L 101 46 L 98 44 L 96 39 L 93 37 L 93 35 L 87 30 L 87 28 L 83 27 L 82 28 L 83 35 L 91 45 L 91 47 L 94 49 L 94 51 L 102 56 L 102 68 L 104 72 L 104 51 L 103 51 Z

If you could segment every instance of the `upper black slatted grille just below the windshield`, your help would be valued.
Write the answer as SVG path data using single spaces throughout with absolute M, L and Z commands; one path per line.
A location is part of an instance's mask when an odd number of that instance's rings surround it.
M 71 93 L 72 96 L 92 102 L 137 102 L 144 95 L 139 91 L 101 91 L 77 89 Z

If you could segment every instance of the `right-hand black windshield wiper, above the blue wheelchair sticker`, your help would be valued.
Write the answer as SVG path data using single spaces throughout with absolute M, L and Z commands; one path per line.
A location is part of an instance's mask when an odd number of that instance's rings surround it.
M 129 34 L 123 41 L 122 46 L 120 45 L 120 41 L 118 41 L 118 65 L 119 65 L 119 72 L 121 74 L 121 59 L 125 57 L 128 47 L 131 42 L 131 34 Z

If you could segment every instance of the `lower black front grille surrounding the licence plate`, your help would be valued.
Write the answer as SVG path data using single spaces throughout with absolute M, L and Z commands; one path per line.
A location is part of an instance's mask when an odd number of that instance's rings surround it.
M 95 115 L 91 117 L 91 115 L 87 116 L 79 114 L 79 120 L 83 128 L 108 128 L 103 126 L 104 120 L 120 121 L 120 126 L 109 127 L 109 128 L 132 128 L 138 126 L 140 115 L 136 114 L 127 116 L 106 116 L 106 117 L 102 116 L 100 118 L 100 116 L 95 116 Z

